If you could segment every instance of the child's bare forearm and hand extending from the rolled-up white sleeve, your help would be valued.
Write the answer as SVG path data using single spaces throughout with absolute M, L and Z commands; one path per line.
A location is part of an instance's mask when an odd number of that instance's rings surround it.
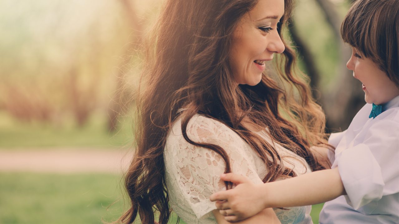
M 211 201 L 219 200 L 216 207 L 230 221 L 251 217 L 264 208 L 318 204 L 345 194 L 338 167 L 261 185 L 233 173 L 221 179 L 238 184 L 210 196 Z

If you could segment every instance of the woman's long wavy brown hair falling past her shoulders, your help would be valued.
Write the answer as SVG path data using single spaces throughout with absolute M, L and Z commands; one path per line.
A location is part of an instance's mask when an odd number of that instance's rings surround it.
M 279 33 L 285 51 L 255 86 L 234 84 L 229 66 L 232 34 L 258 0 L 167 0 L 144 43 L 144 67 L 137 99 L 136 151 L 125 179 L 131 207 L 119 219 L 132 223 L 169 220 L 165 185 L 164 146 L 176 118 L 193 145 L 213 150 L 230 172 L 229 155 L 218 145 L 194 142 L 186 133 L 195 114 L 222 122 L 245 140 L 268 167 L 264 182 L 293 177 L 276 149 L 243 125 L 243 118 L 269 129 L 271 139 L 303 157 L 312 170 L 324 169 L 309 150 L 326 143 L 325 117 L 311 97 L 308 82 L 295 72 L 295 53 L 286 45 L 282 28 L 293 1 L 284 0 Z M 274 72 L 273 72 L 274 71 Z M 274 75 L 272 75 L 274 74 Z M 274 77 L 274 78 L 273 78 Z M 185 108 L 178 113 L 180 108 Z M 226 183 L 226 188 L 229 185 Z

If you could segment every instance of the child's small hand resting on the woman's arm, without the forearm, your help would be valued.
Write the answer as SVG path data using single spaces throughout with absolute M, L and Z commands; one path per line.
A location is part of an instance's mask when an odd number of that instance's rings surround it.
M 234 189 L 219 191 L 209 198 L 216 201 L 216 208 L 229 222 L 237 222 L 265 209 L 264 193 L 261 185 L 253 184 L 248 178 L 233 173 L 220 175 L 223 181 L 230 181 L 237 185 Z

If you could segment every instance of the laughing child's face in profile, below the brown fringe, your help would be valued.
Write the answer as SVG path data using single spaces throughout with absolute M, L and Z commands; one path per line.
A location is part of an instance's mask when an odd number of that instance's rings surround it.
M 399 94 L 399 88 L 381 71 L 371 59 L 363 57 L 355 47 L 346 67 L 359 79 L 364 91 L 364 100 L 376 105 L 384 104 Z

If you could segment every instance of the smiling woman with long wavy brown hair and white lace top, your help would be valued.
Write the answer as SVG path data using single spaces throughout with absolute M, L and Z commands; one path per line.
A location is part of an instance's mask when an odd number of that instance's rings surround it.
M 326 142 L 324 114 L 282 38 L 292 5 L 166 1 L 145 45 L 136 155 L 126 176 L 132 204 L 121 222 L 139 214 L 154 223 L 154 207 L 166 223 L 170 202 L 188 223 L 222 223 L 208 199 L 231 187 L 221 173 L 262 183 L 324 169 L 309 150 Z M 269 208 L 243 222 L 309 223 L 309 212 Z

